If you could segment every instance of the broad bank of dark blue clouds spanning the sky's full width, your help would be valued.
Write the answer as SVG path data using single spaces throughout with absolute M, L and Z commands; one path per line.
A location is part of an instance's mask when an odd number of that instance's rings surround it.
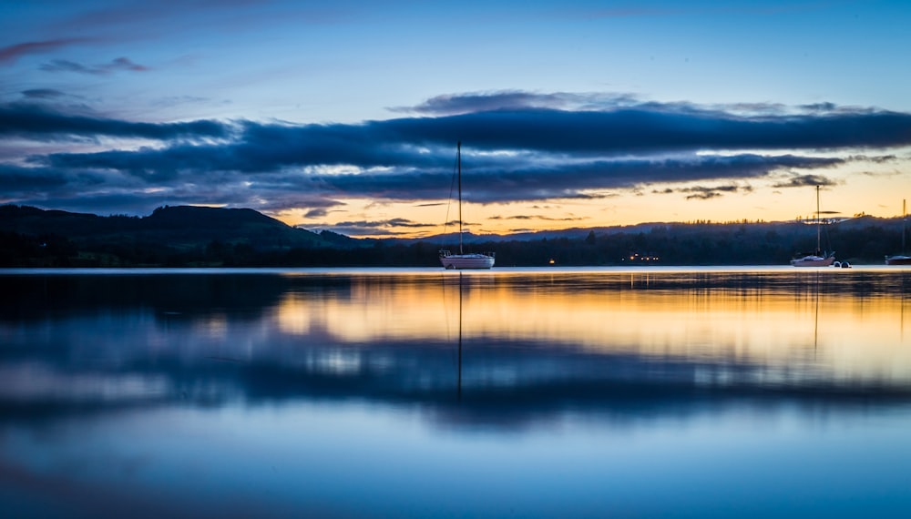
M 421 206 L 447 198 L 459 139 L 464 192 L 477 203 L 598 199 L 616 196 L 618 189 L 641 193 L 681 183 L 705 187 L 668 189 L 711 198 L 747 189 L 737 187 L 743 184 L 738 181 L 785 173 L 791 177 L 776 188 L 831 185 L 812 170 L 847 161 L 884 163 L 896 158 L 856 152 L 911 145 L 909 114 L 828 105 L 785 113 L 771 105 L 725 109 L 624 96 L 501 92 L 437 97 L 417 108 L 458 115 L 362 124 L 137 123 L 5 104 L 0 105 L 0 136 L 61 144 L 55 153 L 19 158 L 18 169 L 0 171 L 0 182 L 10 187 L 4 194 L 14 203 L 24 201 L 25 191 L 11 187 L 32 182 L 37 190 L 45 186 L 47 200 L 72 198 L 70 188 L 80 185 L 90 187 L 84 198 L 132 196 L 135 201 L 128 205 L 137 207 L 189 200 L 272 211 L 296 208 L 309 211 L 308 218 L 322 218 L 343 198 Z M 156 144 L 97 151 L 101 137 Z M 79 143 L 73 139 L 89 140 L 95 149 L 74 150 Z M 773 151 L 782 149 L 789 151 Z M 827 156 L 827 149 L 855 154 Z M 89 179 L 96 183 L 89 186 Z M 711 187 L 715 182 L 720 187 Z

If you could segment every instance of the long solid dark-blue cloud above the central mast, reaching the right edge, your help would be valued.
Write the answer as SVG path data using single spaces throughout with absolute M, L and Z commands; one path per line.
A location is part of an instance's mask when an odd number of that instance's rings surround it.
M 585 155 L 699 149 L 827 149 L 911 143 L 911 115 L 739 117 L 677 107 L 612 111 L 524 109 L 383 123 L 404 141 L 439 145 L 462 138 L 482 150 L 530 149 Z M 377 128 L 379 129 L 379 128 Z

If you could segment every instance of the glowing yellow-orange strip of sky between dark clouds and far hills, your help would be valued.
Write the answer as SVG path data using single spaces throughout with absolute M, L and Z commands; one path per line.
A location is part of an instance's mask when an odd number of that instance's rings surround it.
M 834 185 L 820 189 L 823 216 L 851 218 L 866 214 L 879 218 L 901 215 L 902 200 L 911 197 L 911 168 L 908 161 L 848 163 L 825 170 L 823 176 Z M 602 198 L 563 198 L 511 203 L 477 204 L 465 201 L 463 218 L 466 229 L 474 234 L 509 234 L 526 231 L 572 228 L 627 226 L 648 222 L 712 221 L 789 221 L 813 218 L 815 189 L 775 187 L 789 178 L 786 173 L 768 178 L 714 180 L 710 182 L 661 183 L 639 189 L 602 191 Z M 466 182 L 466 198 L 470 183 Z M 720 191 L 708 199 L 688 198 L 689 188 L 735 186 L 736 191 Z M 665 192 L 669 190 L 670 192 Z M 447 208 L 446 199 L 421 202 L 382 201 L 368 198 L 343 200 L 344 205 L 328 209 L 319 219 L 304 217 L 305 209 L 272 215 L 285 223 L 304 229 L 333 229 L 351 222 L 384 222 L 404 219 L 412 226 L 377 225 L 374 232 L 357 237 L 422 238 L 454 232 L 444 227 L 457 219 L 455 202 Z M 344 227 L 342 225 L 341 227 Z M 345 229 L 339 229 L 343 234 Z

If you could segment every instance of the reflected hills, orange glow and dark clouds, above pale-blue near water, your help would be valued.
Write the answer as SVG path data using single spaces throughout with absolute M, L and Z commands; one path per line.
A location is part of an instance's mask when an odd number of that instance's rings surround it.
M 0 394 L 28 410 L 459 394 L 454 410 L 501 416 L 904 399 L 906 275 L 6 277 Z

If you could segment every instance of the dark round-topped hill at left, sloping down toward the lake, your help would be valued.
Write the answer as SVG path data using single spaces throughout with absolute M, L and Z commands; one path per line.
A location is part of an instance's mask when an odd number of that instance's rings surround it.
M 0 233 L 5 266 L 215 265 L 328 244 L 253 209 L 190 206 L 165 206 L 139 218 L 7 205 L 0 207 Z

